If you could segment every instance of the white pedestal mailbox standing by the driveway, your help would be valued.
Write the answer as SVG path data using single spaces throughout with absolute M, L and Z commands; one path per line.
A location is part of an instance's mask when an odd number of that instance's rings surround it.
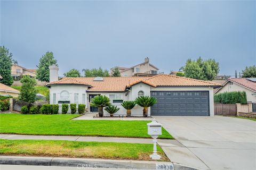
M 156 152 L 156 142 L 157 138 L 159 135 L 162 134 L 162 124 L 157 123 L 155 119 L 153 119 L 152 122 L 148 123 L 148 134 L 151 135 L 153 138 L 153 143 L 154 143 L 154 149 L 153 149 L 153 154 L 150 155 L 151 159 L 161 159 L 161 156 L 157 154 Z

